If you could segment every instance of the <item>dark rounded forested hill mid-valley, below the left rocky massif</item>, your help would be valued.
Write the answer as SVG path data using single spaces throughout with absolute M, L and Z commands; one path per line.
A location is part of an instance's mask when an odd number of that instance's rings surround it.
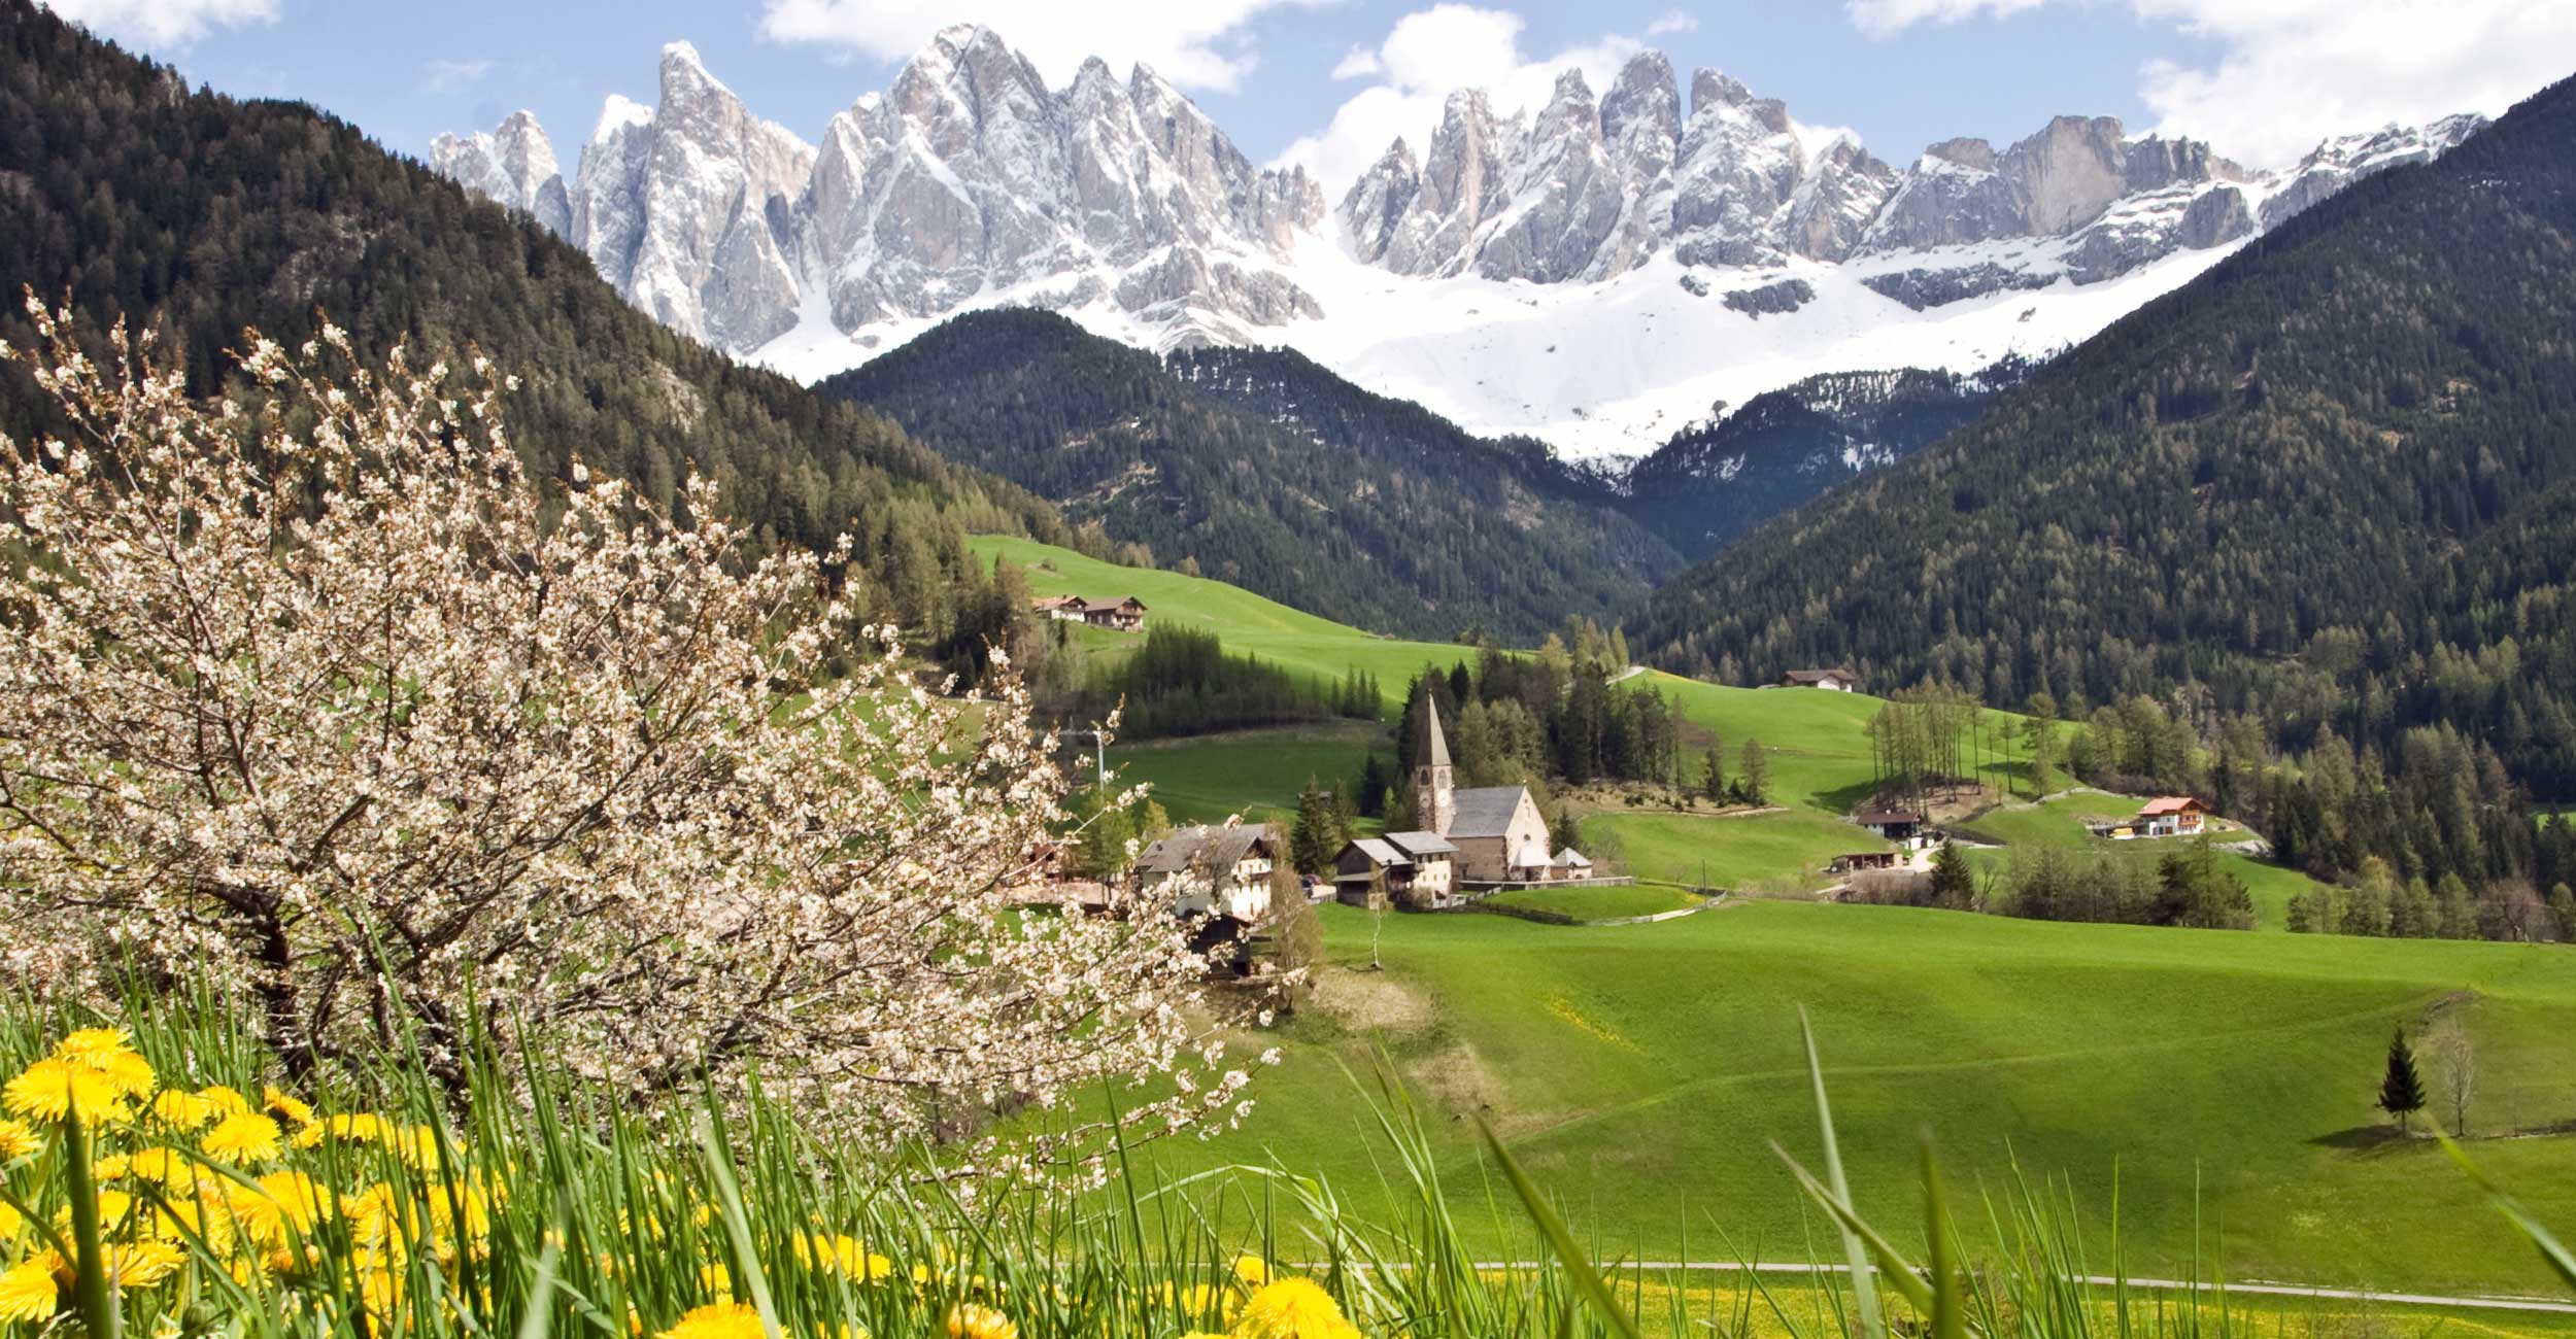
M 1296 355 L 1151 353 L 1046 312 L 956 317 L 817 386 L 1144 546 L 1342 623 L 1535 641 L 1677 554 L 1535 443 L 1489 443 Z

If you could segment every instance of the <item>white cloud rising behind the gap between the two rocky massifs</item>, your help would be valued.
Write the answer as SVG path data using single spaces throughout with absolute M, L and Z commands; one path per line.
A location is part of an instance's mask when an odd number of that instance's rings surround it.
M 1607 33 L 1533 59 L 1520 49 L 1522 28 L 1517 13 L 1476 5 L 1448 3 L 1406 13 L 1370 54 L 1378 82 L 1350 95 L 1321 131 L 1296 139 L 1273 162 L 1306 167 L 1324 183 L 1327 198 L 1340 198 L 1396 136 L 1419 160 L 1453 90 L 1481 88 L 1497 116 L 1538 111 L 1564 70 L 1582 70 L 1592 93 L 1602 93 L 1618 67 L 1646 49 L 1631 36 Z M 1342 64 L 1352 67 L 1358 59 L 1352 52 Z

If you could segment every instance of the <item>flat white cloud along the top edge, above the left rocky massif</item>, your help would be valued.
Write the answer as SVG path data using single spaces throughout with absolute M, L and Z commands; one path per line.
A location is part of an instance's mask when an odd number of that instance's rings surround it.
M 1252 72 L 1244 26 L 1262 10 L 1311 0 L 762 0 L 760 36 L 811 41 L 876 59 L 904 59 L 940 28 L 969 18 L 1025 52 L 1051 85 L 1074 77 L 1087 57 L 1113 67 L 1151 64 L 1180 88 L 1231 90 Z

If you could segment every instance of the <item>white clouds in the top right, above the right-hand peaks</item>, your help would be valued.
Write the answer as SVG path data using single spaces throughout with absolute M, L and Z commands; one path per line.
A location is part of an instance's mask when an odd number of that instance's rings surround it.
M 2043 0 L 1850 0 L 1865 31 L 2007 15 Z M 2138 95 L 2159 131 L 2254 165 L 2329 134 L 2504 111 L 2568 72 L 2576 5 L 2532 0 L 2125 0 L 2138 18 L 2213 41 L 2208 64 L 2148 62 Z

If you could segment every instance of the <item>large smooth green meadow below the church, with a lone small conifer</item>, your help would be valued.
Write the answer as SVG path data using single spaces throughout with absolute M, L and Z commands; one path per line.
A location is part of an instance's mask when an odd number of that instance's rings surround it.
M 2383 1141 L 2391 1025 L 2465 1009 L 2483 1061 L 2473 1133 L 2576 1120 L 2576 955 L 2555 945 L 2040 924 L 1752 901 L 1643 927 L 1321 909 L 1334 955 L 1244 1146 L 1368 1200 L 1378 1172 L 1342 1066 L 1383 1048 L 1430 1107 L 1453 1195 L 1481 1195 L 1484 1115 L 1605 1249 L 1806 1259 L 1816 1223 L 1767 1143 L 1814 1159 L 1795 1007 L 1814 1012 L 1855 1195 L 1919 1223 L 1914 1136 L 1953 1184 L 2063 1177 L 2087 1239 L 2117 1197 L 2138 1272 L 2197 1231 L 2231 1277 L 2540 1290 L 2429 1141 Z M 2473 1141 L 2545 1221 L 2576 1221 L 2576 1138 Z M 1383 1205 L 1381 1205 L 1383 1208 Z M 1723 1228 L 1723 1239 L 1718 1231 Z

